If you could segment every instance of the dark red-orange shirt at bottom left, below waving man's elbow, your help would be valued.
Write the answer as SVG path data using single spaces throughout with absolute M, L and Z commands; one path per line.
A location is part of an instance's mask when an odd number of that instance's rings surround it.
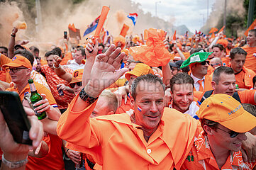
M 35 169 L 56 169 L 65 170 L 64 161 L 62 157 L 62 140 L 57 135 L 47 133 L 43 137 L 49 147 L 48 154 L 42 158 L 28 156 L 28 164 L 26 170 Z

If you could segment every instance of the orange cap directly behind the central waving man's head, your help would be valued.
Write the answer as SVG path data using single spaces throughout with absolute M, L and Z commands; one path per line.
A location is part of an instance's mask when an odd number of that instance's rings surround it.
M 135 65 L 134 69 L 130 72 L 126 73 L 126 79 L 129 80 L 131 75 L 134 75 L 135 77 L 140 77 L 144 74 L 154 74 L 153 70 L 144 63 L 138 63 Z

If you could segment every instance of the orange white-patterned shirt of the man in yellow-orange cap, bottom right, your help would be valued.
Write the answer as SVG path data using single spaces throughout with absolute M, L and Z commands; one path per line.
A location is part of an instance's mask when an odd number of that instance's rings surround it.
M 256 165 L 256 162 L 249 163 L 243 162 L 242 152 L 230 152 L 230 156 L 226 160 L 226 163 L 221 169 L 252 169 Z M 206 134 L 201 131 L 200 135 L 196 137 L 194 145 L 187 156 L 186 161 L 182 165 L 182 170 L 218 170 L 218 164 L 216 162 Z

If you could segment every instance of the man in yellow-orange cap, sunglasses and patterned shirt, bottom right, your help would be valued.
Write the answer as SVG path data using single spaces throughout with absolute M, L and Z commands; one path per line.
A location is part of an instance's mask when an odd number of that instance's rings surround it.
M 255 135 L 255 116 L 226 94 L 207 98 L 197 115 L 203 130 L 181 169 L 253 169 L 256 162 L 243 162 L 240 149 L 246 132 Z

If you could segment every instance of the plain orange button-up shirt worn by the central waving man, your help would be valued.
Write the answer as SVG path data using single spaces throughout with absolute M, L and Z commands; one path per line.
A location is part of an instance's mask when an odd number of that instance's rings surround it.
M 57 134 L 73 144 L 67 143 L 69 149 L 93 155 L 102 169 L 179 169 L 193 145 L 199 121 L 190 115 L 165 108 L 157 130 L 146 142 L 143 130 L 126 113 L 89 118 L 96 102 L 74 113 L 78 97 L 61 115 Z

